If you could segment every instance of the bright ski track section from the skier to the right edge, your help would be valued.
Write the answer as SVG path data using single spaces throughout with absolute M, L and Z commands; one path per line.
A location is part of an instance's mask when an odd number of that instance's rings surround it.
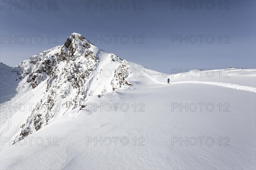
M 256 88 L 245 86 L 245 85 L 236 85 L 236 84 L 223 83 L 223 82 L 181 81 L 181 82 L 172 82 L 171 84 L 184 84 L 184 83 L 217 85 L 225 88 L 233 88 L 237 90 L 250 91 L 250 92 L 256 93 Z

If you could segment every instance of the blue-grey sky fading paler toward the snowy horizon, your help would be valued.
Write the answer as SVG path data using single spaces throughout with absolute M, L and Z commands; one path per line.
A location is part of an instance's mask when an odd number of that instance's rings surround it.
M 171 74 L 172 69 L 184 72 L 193 68 L 256 68 L 255 0 L 205 0 L 202 6 L 198 0 L 42 0 L 37 6 L 35 2 L 30 9 L 26 0 L 12 1 L 17 3 L 15 9 L 9 0 L 1 0 L 0 60 L 6 65 L 15 66 L 34 54 L 62 45 L 70 34 L 77 32 L 84 37 L 93 36 L 90 41 L 104 51 L 164 73 Z M 188 8 L 180 6 L 180 2 L 187 3 Z M 95 6 L 96 3 L 102 5 Z M 41 4 L 44 6 L 40 10 Z M 6 35 L 8 39 L 17 35 L 20 40 L 9 42 L 4 40 Z M 28 35 L 34 36 L 31 44 Z M 41 44 L 35 40 L 38 35 L 44 38 Z M 116 42 L 115 35 L 119 36 Z M 174 40 L 176 35 L 188 35 L 190 39 L 187 44 L 186 40 L 180 43 Z M 195 43 L 193 35 L 197 37 Z M 198 35 L 204 35 L 202 43 Z M 26 41 L 21 43 L 23 36 Z M 95 42 L 94 36 L 102 36 L 102 43 Z M 129 40 L 123 43 L 120 37 L 123 42 L 125 37 Z M 214 41 L 209 43 L 211 37 Z

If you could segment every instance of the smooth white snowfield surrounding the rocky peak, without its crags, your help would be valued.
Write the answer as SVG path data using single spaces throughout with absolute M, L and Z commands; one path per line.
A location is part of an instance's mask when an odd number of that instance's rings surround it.
M 116 68 L 93 48 L 101 68 Z M 15 144 L 31 111 L 10 105 L 40 101 L 47 80 L 15 94 L 23 80 L 1 76 L 0 169 L 256 169 L 256 69 L 169 75 L 122 63 L 130 87 L 102 93 L 112 77 L 92 79 L 85 107 L 55 111 Z

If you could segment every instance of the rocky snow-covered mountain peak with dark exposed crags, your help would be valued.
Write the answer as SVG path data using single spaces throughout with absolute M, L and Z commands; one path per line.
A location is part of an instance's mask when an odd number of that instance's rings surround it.
M 17 136 L 15 142 L 67 111 L 86 105 L 91 96 L 131 87 L 127 80 L 132 71 L 130 66 L 126 60 L 97 48 L 78 33 L 71 34 L 64 45 L 24 60 L 13 68 L 17 74 L 16 90 L 24 96 L 36 94 L 38 98 L 26 120 L 18 125 L 19 132 L 11 134 Z

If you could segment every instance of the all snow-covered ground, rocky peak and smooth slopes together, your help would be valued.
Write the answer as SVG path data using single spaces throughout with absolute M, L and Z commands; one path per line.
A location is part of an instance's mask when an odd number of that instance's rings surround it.
M 69 39 L 0 65 L 1 169 L 256 168 L 256 69 L 168 75 Z

